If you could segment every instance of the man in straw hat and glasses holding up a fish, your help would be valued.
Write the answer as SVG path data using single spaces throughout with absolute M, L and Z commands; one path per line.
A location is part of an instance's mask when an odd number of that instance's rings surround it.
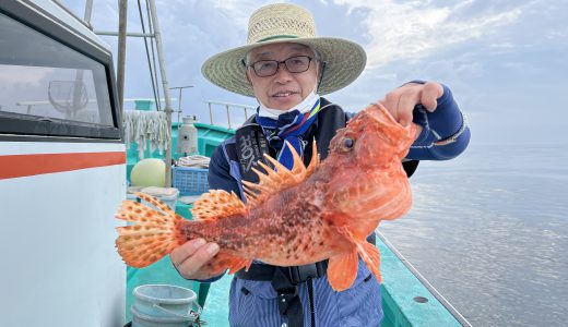
M 268 153 L 291 167 L 284 141 L 311 158 L 305 146 L 316 138 L 322 159 L 338 129 L 350 114 L 320 95 L 352 83 L 365 68 L 363 48 L 352 41 L 316 37 L 313 19 L 293 4 L 271 4 L 249 21 L 248 45 L 209 59 L 202 72 L 228 90 L 253 96 L 259 108 L 233 137 L 212 156 L 211 189 L 235 192 L 241 180 L 256 181 L 250 167 Z M 421 159 L 450 159 L 465 149 L 470 132 L 449 88 L 439 83 L 411 82 L 379 100 L 403 125 L 421 125 L 407 160 L 412 174 Z M 369 237 L 375 242 L 374 235 Z M 206 263 L 218 245 L 202 239 L 176 249 L 170 258 L 181 276 L 213 281 Z M 232 326 L 378 326 L 382 318 L 380 288 L 359 258 L 357 278 L 343 292 L 334 292 L 326 276 L 327 262 L 300 267 L 255 263 L 233 280 L 229 303 Z

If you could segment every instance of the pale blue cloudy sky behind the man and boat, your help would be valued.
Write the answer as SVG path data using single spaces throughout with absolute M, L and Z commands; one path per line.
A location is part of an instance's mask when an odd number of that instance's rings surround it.
M 60 0 L 79 16 L 84 0 Z M 141 32 L 130 0 L 128 31 Z M 143 3 L 144 1 L 142 1 Z M 320 36 L 342 37 L 367 52 L 364 73 L 327 97 L 347 111 L 412 80 L 450 87 L 465 112 L 472 144 L 568 143 L 568 1 L 287 1 L 307 8 Z M 94 0 L 95 31 L 118 29 L 118 1 Z M 250 13 L 270 1 L 156 0 L 170 87 L 184 92 L 184 114 L 209 122 L 205 101 L 256 107 L 201 75 L 211 56 L 245 45 Z M 102 36 L 117 53 L 117 38 Z M 125 98 L 153 96 L 141 38 L 129 38 Z M 177 92 L 171 94 L 177 98 Z M 175 101 L 174 108 L 178 108 Z M 128 107 L 128 106 L 127 106 Z M 214 119 L 223 120 L 223 108 Z

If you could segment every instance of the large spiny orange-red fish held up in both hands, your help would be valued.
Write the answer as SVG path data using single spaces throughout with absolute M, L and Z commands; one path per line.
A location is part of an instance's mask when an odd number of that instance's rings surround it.
M 129 266 L 145 267 L 203 238 L 221 247 L 204 267 L 213 274 L 227 268 L 234 274 L 253 259 L 298 266 L 329 258 L 329 282 L 342 291 L 355 280 L 360 256 L 380 280 L 379 252 L 366 238 L 382 219 L 411 207 L 401 160 L 415 133 L 414 124 L 403 128 L 382 106 L 369 105 L 338 131 L 321 164 L 313 155 L 306 168 L 292 147 L 292 170 L 267 156 L 275 169 L 259 162 L 264 172 L 257 171 L 258 184 L 245 182 L 246 204 L 234 193 L 212 190 L 194 203 L 193 221 L 139 193 L 158 210 L 122 203 L 116 217 L 135 225 L 118 228 L 118 252 Z

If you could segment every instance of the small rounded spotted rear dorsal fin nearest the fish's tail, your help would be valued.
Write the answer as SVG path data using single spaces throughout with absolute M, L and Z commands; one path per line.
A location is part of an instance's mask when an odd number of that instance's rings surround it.
M 234 192 L 229 194 L 224 190 L 211 190 L 193 203 L 191 215 L 194 219 L 216 220 L 245 211 L 245 204 Z

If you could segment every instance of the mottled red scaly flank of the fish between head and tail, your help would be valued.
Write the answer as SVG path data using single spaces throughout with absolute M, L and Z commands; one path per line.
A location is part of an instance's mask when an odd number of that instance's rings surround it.
M 203 238 L 265 263 L 292 266 L 307 264 L 313 257 L 324 259 L 330 254 L 326 243 L 332 241 L 332 226 L 323 220 L 323 209 L 316 205 L 315 197 L 319 194 L 296 195 L 306 194 L 303 189 L 311 189 L 308 184 L 283 190 L 280 196 L 251 208 L 248 215 L 206 222 L 187 221 L 186 238 Z M 199 227 L 192 228 L 196 225 Z

